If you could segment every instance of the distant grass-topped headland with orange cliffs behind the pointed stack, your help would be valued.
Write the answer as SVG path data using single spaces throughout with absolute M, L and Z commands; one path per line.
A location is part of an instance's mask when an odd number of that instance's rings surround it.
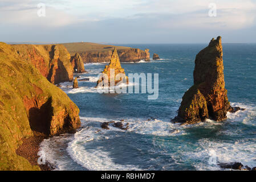
M 71 55 L 78 52 L 84 63 L 107 63 L 111 59 L 115 46 L 95 43 L 64 43 Z M 121 62 L 138 62 L 150 60 L 149 49 L 145 51 L 138 48 L 116 46 Z

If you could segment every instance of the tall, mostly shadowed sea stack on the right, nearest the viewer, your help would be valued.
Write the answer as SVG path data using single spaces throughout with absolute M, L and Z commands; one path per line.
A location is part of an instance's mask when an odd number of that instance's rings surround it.
M 206 118 L 222 121 L 231 108 L 227 100 L 221 36 L 212 39 L 195 60 L 194 85 L 184 94 L 173 122 L 194 124 Z

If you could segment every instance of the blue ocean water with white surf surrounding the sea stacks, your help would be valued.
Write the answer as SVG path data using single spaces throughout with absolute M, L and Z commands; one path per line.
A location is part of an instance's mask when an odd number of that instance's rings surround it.
M 41 150 L 57 170 L 222 170 L 217 163 L 256 166 L 256 44 L 223 44 L 227 96 L 244 111 L 224 122 L 170 123 L 181 98 L 193 85 L 196 54 L 207 44 L 124 45 L 149 48 L 161 60 L 121 63 L 125 73 L 159 73 L 159 97 L 148 94 L 99 94 L 97 75 L 105 63 L 86 64 L 90 81 L 62 89 L 80 109 L 82 127 L 75 134 L 46 139 Z M 131 85 L 132 86 L 132 85 Z M 100 125 L 124 119 L 128 131 Z

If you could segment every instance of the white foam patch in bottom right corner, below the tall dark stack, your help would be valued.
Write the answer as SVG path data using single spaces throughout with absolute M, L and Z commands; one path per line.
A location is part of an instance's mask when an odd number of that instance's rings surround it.
M 244 166 L 256 166 L 256 143 L 239 140 L 234 143 L 212 142 L 209 139 L 201 139 L 198 142 L 198 151 L 189 151 L 184 154 L 186 160 L 198 160 L 194 163 L 197 170 L 224 170 L 218 163 L 241 162 Z M 212 155 L 214 154 L 214 155 Z M 209 163 L 209 159 L 215 157 L 216 164 Z

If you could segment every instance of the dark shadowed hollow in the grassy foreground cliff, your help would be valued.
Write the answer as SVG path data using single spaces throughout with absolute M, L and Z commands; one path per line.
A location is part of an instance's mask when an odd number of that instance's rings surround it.
M 32 131 L 50 134 L 50 125 L 53 115 L 52 97 L 48 98 L 40 109 L 31 107 L 29 110 L 29 124 Z

